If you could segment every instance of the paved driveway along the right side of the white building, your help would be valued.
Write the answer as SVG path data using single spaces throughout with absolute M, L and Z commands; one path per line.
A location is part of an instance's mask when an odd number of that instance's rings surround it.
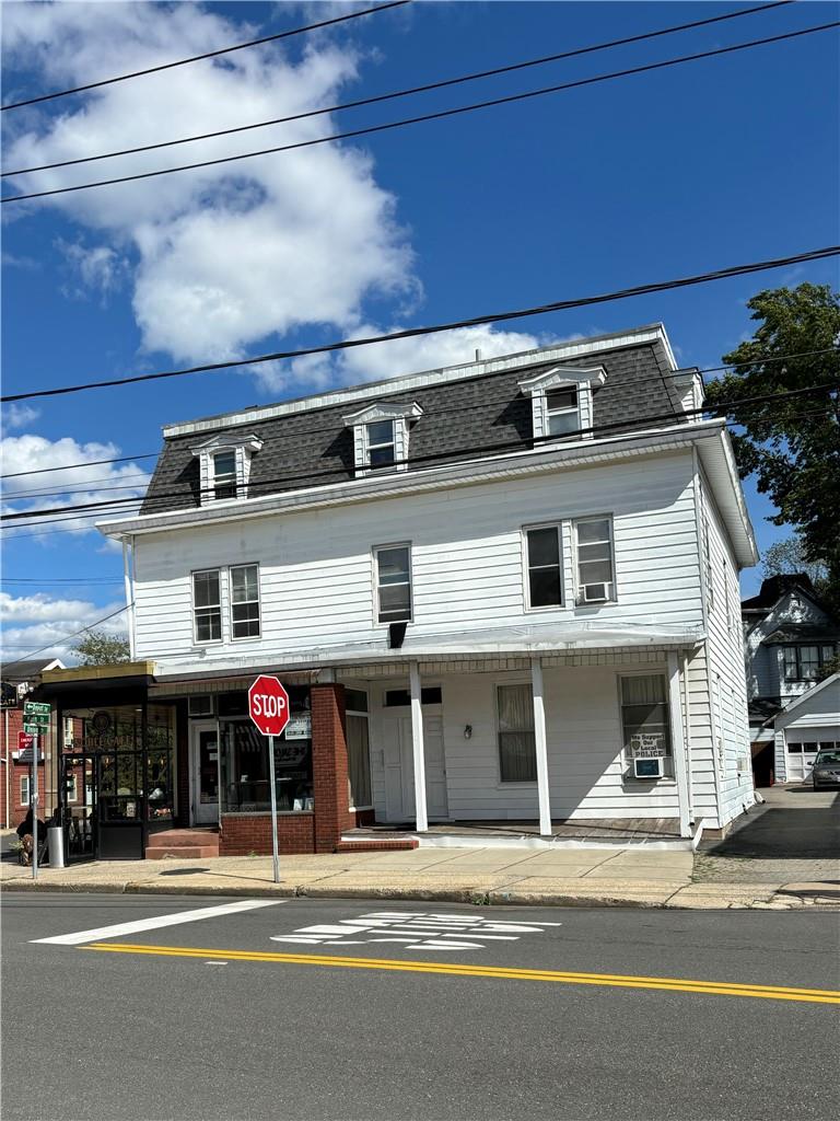
M 829 880 L 840 883 L 840 790 L 810 784 L 760 791 L 764 805 L 724 841 L 700 845 L 696 880 Z

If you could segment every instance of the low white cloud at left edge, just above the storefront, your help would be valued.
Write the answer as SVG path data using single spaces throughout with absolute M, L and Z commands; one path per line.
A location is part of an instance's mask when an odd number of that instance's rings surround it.
M 83 637 L 75 632 L 82 628 L 94 627 L 109 634 L 124 633 L 124 614 L 118 614 L 104 623 L 97 622 L 119 611 L 121 606 L 123 604 L 119 602 L 103 605 L 87 600 L 63 600 L 46 594 L 12 596 L 0 593 L 4 623 L 0 633 L 2 659 L 8 665 L 37 650 L 39 656 L 43 654 L 44 657 L 72 663 L 76 642 Z M 8 627 L 6 623 L 9 621 L 22 626 Z M 45 649 L 41 650 L 41 647 Z

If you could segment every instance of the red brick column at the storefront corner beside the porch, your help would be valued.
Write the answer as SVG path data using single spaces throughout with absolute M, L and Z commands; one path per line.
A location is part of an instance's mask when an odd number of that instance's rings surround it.
M 344 686 L 312 685 L 312 780 L 315 851 L 335 852 L 342 833 L 355 823 L 349 813 Z

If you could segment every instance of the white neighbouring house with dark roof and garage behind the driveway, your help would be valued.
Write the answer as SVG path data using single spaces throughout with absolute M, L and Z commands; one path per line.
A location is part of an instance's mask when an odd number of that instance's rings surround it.
M 840 620 L 804 573 L 763 581 L 758 595 L 741 603 L 741 619 L 756 784 L 800 782 L 810 775 L 819 744 L 840 740 L 840 730 L 829 721 L 814 736 L 804 725 L 785 725 L 780 741 L 778 717 L 794 711 L 793 702 L 814 687 L 837 654 Z

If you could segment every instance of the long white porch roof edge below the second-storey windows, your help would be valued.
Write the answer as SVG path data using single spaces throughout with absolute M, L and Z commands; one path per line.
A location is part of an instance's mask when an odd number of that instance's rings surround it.
M 404 671 L 412 661 L 460 661 L 477 658 L 550 657 L 569 654 L 618 654 L 638 649 L 693 649 L 706 637 L 701 627 L 669 627 L 644 623 L 597 623 L 577 621 L 569 626 L 533 623 L 468 632 L 426 634 L 407 638 L 399 648 L 389 648 L 388 638 L 376 642 L 310 648 L 306 651 L 262 654 L 254 657 L 205 657 L 178 665 L 159 661 L 158 686 L 176 682 L 200 682 L 213 677 L 245 677 L 253 673 L 317 670 L 354 666 L 399 666 Z M 157 691 L 156 691 L 157 692 Z

